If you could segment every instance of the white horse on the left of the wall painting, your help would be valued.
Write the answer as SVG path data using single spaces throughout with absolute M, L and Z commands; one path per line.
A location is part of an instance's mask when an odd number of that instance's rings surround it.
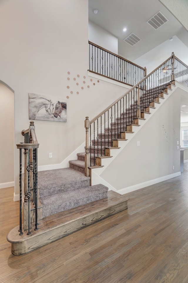
M 47 115 L 53 118 L 53 103 L 44 97 L 29 97 L 29 120 L 35 120 L 38 111 L 45 108 Z

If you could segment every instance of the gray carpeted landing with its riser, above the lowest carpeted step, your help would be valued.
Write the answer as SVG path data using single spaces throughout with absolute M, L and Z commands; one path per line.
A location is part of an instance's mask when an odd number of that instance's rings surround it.
M 38 172 L 39 198 L 90 185 L 90 177 L 71 168 Z

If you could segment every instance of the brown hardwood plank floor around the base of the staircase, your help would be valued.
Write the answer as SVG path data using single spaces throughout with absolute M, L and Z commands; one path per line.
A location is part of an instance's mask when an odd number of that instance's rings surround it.
M 128 210 L 22 256 L 6 240 L 19 203 L 1 189 L 0 282 L 187 283 L 186 164 L 182 176 L 128 193 Z

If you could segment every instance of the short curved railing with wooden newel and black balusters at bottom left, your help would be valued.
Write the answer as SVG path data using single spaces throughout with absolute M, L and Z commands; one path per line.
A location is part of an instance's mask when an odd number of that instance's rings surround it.
M 38 170 L 37 170 L 37 148 L 39 143 L 36 138 L 34 122 L 30 122 L 27 130 L 23 130 L 24 143 L 16 144 L 20 150 L 20 229 L 19 234 L 22 235 L 22 228 L 28 230 L 28 235 L 31 234 L 31 202 L 34 209 L 35 230 L 37 230 L 37 209 L 38 209 Z M 23 200 L 23 216 L 22 223 L 22 149 L 24 150 L 24 200 Z M 23 224 L 23 225 L 22 225 Z

